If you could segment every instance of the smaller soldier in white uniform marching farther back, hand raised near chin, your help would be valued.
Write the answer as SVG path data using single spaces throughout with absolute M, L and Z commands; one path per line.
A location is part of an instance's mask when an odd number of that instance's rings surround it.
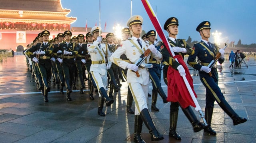
M 100 27 L 94 26 L 92 27 L 91 33 L 94 39 L 97 39 L 93 42 L 93 44 L 88 45 L 88 52 L 91 55 L 92 65 L 90 67 L 90 73 L 92 74 L 92 78 L 94 79 L 96 86 L 98 88 L 99 100 L 98 100 L 98 114 L 100 116 L 106 116 L 104 112 L 102 112 L 104 100 L 106 102 L 106 106 L 110 106 L 114 100 L 109 98 L 106 92 L 107 86 L 107 67 L 111 67 L 110 56 L 111 53 L 108 46 L 106 44 L 102 44 L 102 37 L 100 37 Z M 108 60 L 108 61 L 106 61 Z M 106 67 L 106 62 L 108 65 Z M 102 98 L 103 97 L 103 98 Z

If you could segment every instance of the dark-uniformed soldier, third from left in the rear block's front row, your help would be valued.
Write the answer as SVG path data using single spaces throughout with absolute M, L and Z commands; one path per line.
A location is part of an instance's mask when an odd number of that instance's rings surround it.
M 84 93 L 84 76 L 83 73 L 85 71 L 83 71 L 83 67 L 84 64 L 86 63 L 85 61 L 85 57 L 86 57 L 86 45 L 83 44 L 83 39 L 84 39 L 84 35 L 83 34 L 78 34 L 77 36 L 78 39 L 78 44 L 76 45 L 76 50 L 78 51 L 77 57 L 76 57 L 76 67 L 77 67 L 77 71 L 78 71 L 78 77 L 80 80 L 80 94 Z

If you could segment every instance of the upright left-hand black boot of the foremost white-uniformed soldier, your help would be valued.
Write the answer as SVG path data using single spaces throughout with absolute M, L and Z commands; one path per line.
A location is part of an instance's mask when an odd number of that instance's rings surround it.
M 143 124 L 143 121 L 140 118 L 140 115 L 135 115 L 134 116 L 134 137 L 133 137 L 133 141 L 135 143 L 146 143 L 141 138 L 142 124 Z

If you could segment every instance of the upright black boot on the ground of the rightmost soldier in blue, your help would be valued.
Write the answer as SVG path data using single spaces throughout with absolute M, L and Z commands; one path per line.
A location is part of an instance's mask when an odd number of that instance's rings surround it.
M 208 126 L 204 128 L 204 132 L 207 132 L 210 135 L 216 135 L 217 134 L 216 131 L 214 131 L 211 127 L 212 113 L 213 113 L 213 108 L 205 108 L 205 120 Z

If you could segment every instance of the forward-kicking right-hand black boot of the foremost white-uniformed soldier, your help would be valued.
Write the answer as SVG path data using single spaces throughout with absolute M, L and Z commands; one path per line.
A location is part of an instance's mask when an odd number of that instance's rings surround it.
M 148 128 L 149 133 L 151 134 L 151 141 L 159 141 L 164 139 L 164 136 L 156 130 L 155 124 L 150 117 L 148 109 L 144 108 L 140 112 L 140 117 L 144 124 L 146 125 L 146 127 Z

